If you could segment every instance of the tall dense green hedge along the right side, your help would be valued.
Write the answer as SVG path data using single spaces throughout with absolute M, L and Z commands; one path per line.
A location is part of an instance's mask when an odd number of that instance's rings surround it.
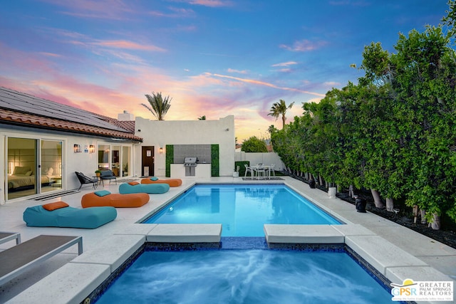
M 388 211 L 401 199 L 429 221 L 456 221 L 456 52 L 448 33 L 439 25 L 400 34 L 396 53 L 366 46 L 358 85 L 304 104 L 303 116 L 271 133 L 286 167 L 371 189 Z

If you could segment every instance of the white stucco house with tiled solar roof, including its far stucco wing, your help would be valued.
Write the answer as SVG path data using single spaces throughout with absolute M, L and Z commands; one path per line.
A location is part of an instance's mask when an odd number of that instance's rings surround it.
M 212 129 L 223 124 L 226 134 L 220 140 Z M 218 145 L 217 158 L 229 162 L 218 173 L 231 174 L 234 117 L 199 126 L 193 121 L 135 121 L 126 111 L 114 119 L 0 87 L 0 204 L 78 189 L 75 172 L 93 177 L 97 169 L 111 169 L 121 181 L 140 177 L 148 167 L 147 175 L 165 177 L 166 159 L 172 159 L 165 157 L 166 145 L 186 152 L 199 143 Z M 142 159 L 143 151 L 152 158 Z M 150 159 L 151 165 L 143 163 Z

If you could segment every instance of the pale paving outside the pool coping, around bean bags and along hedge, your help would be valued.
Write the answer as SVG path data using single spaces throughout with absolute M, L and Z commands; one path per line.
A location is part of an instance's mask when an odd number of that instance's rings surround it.
M 242 178 L 233 177 L 219 177 L 212 178 L 200 182 L 236 182 L 243 183 Z M 277 182 L 277 181 L 271 181 Z M 322 192 L 319 189 L 310 189 L 308 184 L 300 182 L 296 179 L 284 177 L 284 182 L 289 184 L 290 187 L 296 189 L 307 196 L 311 201 L 316 204 L 323 206 L 330 213 L 338 214 L 346 221 L 352 224 L 360 224 L 366 229 L 371 230 L 383 239 L 388 240 L 393 245 L 402 248 L 411 255 L 425 262 L 428 266 L 435 268 L 435 270 L 450 276 L 453 280 L 456 279 L 456 249 L 446 246 L 445 244 L 434 241 L 427 236 L 416 233 L 410 229 L 407 229 L 399 224 L 395 224 L 392 221 L 383 219 L 380 216 L 376 216 L 371 213 L 358 213 L 352 204 L 342 201 L 341 199 L 331 199 L 328 197 L 326 192 Z M 140 208 L 125 208 L 118 209 L 118 217 L 115 221 L 99 227 L 98 229 L 63 229 L 63 228 L 51 228 L 51 227 L 27 227 L 22 220 L 22 213 L 28 206 L 35 206 L 38 204 L 45 204 L 52 201 L 66 201 L 70 206 L 81 207 L 81 196 L 88 192 L 91 192 L 91 187 L 83 187 L 81 192 L 76 194 L 66 195 L 62 197 L 56 197 L 47 201 L 36 201 L 36 200 L 23 200 L 14 201 L 9 204 L 0 206 L 0 231 L 11 231 L 19 232 L 21 234 L 22 241 L 32 239 L 40 234 L 56 234 L 56 235 L 74 235 L 83 236 L 84 252 L 90 251 L 96 248 L 98 243 L 107 239 L 114 234 L 118 234 L 123 231 L 125 227 L 144 219 L 147 214 L 158 209 L 160 205 L 169 201 L 172 197 L 182 193 L 195 183 L 195 179 L 184 179 L 181 187 L 171 188 L 170 192 L 166 194 L 151 194 L 151 200 L 149 204 Z M 245 181 L 244 183 L 252 183 L 252 181 Z M 104 189 L 110 192 L 118 192 L 118 185 L 106 184 Z M 16 243 L 9 241 L 0 245 L 0 251 Z M 7 300 L 13 298 L 15 295 L 21 293 L 29 286 L 40 281 L 49 273 L 56 271 L 56 269 L 73 260 L 77 256 L 77 248 L 68 249 L 63 253 L 59 253 L 57 256 L 49 259 L 48 261 L 34 268 L 32 271 L 24 273 L 17 277 L 13 281 L 6 283 L 0 287 L 0 303 L 4 303 Z M 394 253 L 385 252 L 385 256 L 393 258 Z M 415 281 L 418 281 L 415 278 Z M 426 278 L 426 281 L 432 281 L 432 278 Z

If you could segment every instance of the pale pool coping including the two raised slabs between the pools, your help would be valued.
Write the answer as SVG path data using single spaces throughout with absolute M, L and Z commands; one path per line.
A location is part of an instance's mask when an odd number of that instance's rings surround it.
M 285 182 L 283 184 L 290 187 Z M 180 193 L 192 186 L 193 184 L 190 184 Z M 290 188 L 294 189 L 293 187 Z M 302 192 L 297 192 L 309 199 Z M 365 226 L 353 224 L 343 219 L 336 211 L 319 204 L 318 201 L 309 200 L 346 224 L 265 224 L 266 241 L 271 244 L 343 243 L 394 283 L 402 283 L 406 278 L 413 278 L 414 281 L 428 281 L 429 278 L 432 278 L 433 281 L 453 281 L 450 276 L 437 271 L 419 258 L 366 229 Z M 169 200 L 165 201 L 155 208 L 155 211 L 168 202 Z M 143 216 L 142 219 L 145 217 Z M 29 303 L 31 298 L 37 302 L 46 303 L 83 303 L 93 290 L 98 288 L 111 273 L 125 263 L 145 243 L 151 241 L 213 243 L 220 241 L 221 231 L 221 224 L 139 224 L 137 222 L 125 225 L 121 233 L 113 234 L 104 239 L 90 251 L 74 258 L 6 303 Z

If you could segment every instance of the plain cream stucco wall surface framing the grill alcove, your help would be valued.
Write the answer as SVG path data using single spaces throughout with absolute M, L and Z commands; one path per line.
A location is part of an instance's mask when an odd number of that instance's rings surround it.
M 135 135 L 154 147 L 155 175 L 166 174 L 166 145 L 219 145 L 219 175 L 234 170 L 234 115 L 219 120 L 148 120 L 136 117 Z M 160 154 L 160 147 L 163 153 Z M 135 150 L 135 172 L 141 172 L 141 151 Z

